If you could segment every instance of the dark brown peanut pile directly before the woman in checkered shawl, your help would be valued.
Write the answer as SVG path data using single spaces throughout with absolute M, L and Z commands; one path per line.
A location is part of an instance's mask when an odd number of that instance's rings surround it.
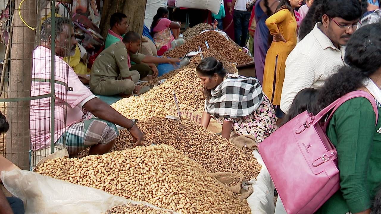
M 144 134 L 145 146 L 173 146 L 208 172 L 231 172 L 243 174 L 246 179 L 254 179 L 261 170 L 261 165 L 253 155 L 243 152 L 223 137 L 193 121 L 154 117 L 140 120 L 137 125 Z M 120 131 L 113 150 L 131 148 L 131 141 L 132 137 L 128 131 Z

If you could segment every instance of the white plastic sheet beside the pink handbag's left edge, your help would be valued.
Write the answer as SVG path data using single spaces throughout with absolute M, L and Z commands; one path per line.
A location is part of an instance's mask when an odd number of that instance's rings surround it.
M 254 150 L 253 155 L 258 160 L 258 163 L 262 165 L 262 169 L 253 185 L 253 194 L 247 198 L 247 203 L 252 214 L 273 214 L 275 212 L 274 183 L 259 152 Z

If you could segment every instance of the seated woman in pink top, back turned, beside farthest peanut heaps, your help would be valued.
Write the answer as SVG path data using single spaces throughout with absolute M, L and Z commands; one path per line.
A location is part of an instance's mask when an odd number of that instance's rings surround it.
M 169 20 L 168 13 L 166 8 L 157 9 L 151 26 L 151 35 L 154 38 L 158 54 L 163 54 L 185 43 L 184 39 L 178 38 L 180 24 Z

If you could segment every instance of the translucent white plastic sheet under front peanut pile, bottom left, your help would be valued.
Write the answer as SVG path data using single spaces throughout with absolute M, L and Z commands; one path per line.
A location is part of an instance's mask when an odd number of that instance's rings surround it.
M 97 214 L 126 203 L 160 209 L 21 169 L 2 171 L 0 179 L 12 195 L 24 202 L 25 214 Z

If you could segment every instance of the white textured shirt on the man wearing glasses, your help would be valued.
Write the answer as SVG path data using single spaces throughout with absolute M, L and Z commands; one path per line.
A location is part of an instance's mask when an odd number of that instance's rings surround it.
M 304 88 L 319 88 L 344 65 L 344 48 L 335 47 L 317 27 L 288 55 L 280 108 L 287 114 L 296 94 Z

